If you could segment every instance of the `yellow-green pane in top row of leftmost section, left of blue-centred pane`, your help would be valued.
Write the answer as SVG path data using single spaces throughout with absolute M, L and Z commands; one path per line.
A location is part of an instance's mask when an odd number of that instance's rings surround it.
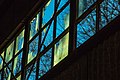
M 8 63 L 13 57 L 14 41 L 6 49 L 5 62 Z

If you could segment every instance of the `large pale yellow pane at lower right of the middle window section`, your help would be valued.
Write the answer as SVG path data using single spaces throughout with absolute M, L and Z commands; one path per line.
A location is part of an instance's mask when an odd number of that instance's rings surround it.
M 68 55 L 69 33 L 55 44 L 54 66 Z

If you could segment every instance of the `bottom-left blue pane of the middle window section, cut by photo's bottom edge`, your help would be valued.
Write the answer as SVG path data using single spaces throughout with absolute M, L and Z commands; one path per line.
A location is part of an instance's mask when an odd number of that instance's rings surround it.
M 33 67 L 33 68 L 32 68 Z M 32 70 L 30 72 L 30 70 Z M 27 69 L 27 76 L 26 76 L 26 80 L 36 80 L 36 63 L 33 65 L 31 65 L 28 69 Z

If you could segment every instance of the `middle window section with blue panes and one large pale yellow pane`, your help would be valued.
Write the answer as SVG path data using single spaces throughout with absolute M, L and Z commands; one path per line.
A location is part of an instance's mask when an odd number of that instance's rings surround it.
M 70 5 L 68 0 L 58 0 L 57 4 L 55 4 L 55 1 L 49 0 L 30 22 L 28 65 L 32 60 L 35 60 L 36 56 L 42 54 L 54 42 L 54 39 L 58 38 L 69 27 Z M 55 7 L 55 5 L 58 7 Z M 56 12 L 55 8 L 57 8 Z M 68 55 L 68 41 L 69 34 L 67 33 L 58 42 L 54 43 L 47 52 L 43 53 L 35 63 L 28 66 L 26 79 L 35 80 L 37 73 L 38 78 L 40 78 L 53 66 L 63 60 Z M 54 56 L 52 56 L 53 54 Z M 38 64 L 39 71 L 36 72 Z

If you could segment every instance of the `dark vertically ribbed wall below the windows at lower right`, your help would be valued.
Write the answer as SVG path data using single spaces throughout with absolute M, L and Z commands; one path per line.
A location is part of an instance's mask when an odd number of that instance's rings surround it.
M 119 80 L 120 31 L 71 64 L 53 80 Z

